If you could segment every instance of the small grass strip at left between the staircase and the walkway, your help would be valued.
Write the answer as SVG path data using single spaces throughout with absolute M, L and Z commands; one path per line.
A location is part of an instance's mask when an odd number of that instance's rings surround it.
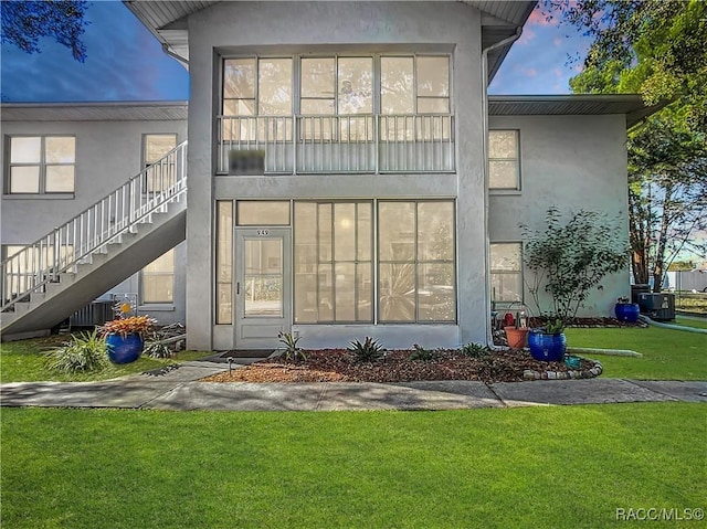
M 0 381 L 7 382 L 33 382 L 42 380 L 55 381 L 89 381 L 108 380 L 126 374 L 141 373 L 151 369 L 162 368 L 171 363 L 183 362 L 202 358 L 208 352 L 180 351 L 173 359 L 155 359 L 140 357 L 133 363 L 110 364 L 99 373 L 83 373 L 75 375 L 56 374 L 44 367 L 42 352 L 67 341 L 68 336 L 52 336 L 31 340 L 11 341 L 0 345 Z

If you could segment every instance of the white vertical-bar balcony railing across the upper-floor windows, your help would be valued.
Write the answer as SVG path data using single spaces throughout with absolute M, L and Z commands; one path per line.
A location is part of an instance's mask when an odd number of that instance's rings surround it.
M 230 152 L 264 152 L 265 174 L 453 172 L 453 115 L 219 116 L 218 172 Z

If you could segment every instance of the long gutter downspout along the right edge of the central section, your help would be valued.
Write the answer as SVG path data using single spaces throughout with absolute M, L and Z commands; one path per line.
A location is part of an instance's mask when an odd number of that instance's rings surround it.
M 482 82 L 484 83 L 484 89 L 482 92 L 482 152 L 484 157 L 484 233 L 486 236 L 486 245 L 484 248 L 484 260 L 486 266 L 486 282 L 485 282 L 485 292 L 486 292 L 486 343 L 492 349 L 505 349 L 497 348 L 494 345 L 494 335 L 490 328 L 490 281 L 488 281 L 490 273 L 490 256 L 488 252 L 489 247 L 489 237 L 488 237 L 488 52 L 495 50 L 500 46 L 505 46 L 506 44 L 510 44 L 517 41 L 523 34 L 523 27 L 519 25 L 516 28 L 516 32 L 504 39 L 500 42 L 496 42 L 488 47 L 482 50 Z

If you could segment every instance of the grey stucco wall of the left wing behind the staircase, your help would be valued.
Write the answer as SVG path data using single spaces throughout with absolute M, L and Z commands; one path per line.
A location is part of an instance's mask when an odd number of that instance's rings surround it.
M 41 109 L 35 109 L 41 112 Z M 102 121 L 2 121 L 3 138 L 12 135 L 73 135 L 76 137 L 74 193 L 62 195 L 2 195 L 2 244 L 30 244 L 117 189 L 141 170 L 143 136 L 177 134 L 177 142 L 187 139 L 186 120 L 102 120 Z M 7 178 L 6 152 L 2 152 Z M 149 306 L 160 324 L 186 319 L 187 245 L 176 248 L 175 303 Z M 110 293 L 138 293 L 134 275 Z

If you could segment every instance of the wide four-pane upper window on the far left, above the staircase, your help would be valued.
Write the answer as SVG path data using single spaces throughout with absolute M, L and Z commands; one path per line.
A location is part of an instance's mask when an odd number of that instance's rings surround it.
M 11 136 L 6 191 L 73 193 L 76 138 L 73 136 Z

